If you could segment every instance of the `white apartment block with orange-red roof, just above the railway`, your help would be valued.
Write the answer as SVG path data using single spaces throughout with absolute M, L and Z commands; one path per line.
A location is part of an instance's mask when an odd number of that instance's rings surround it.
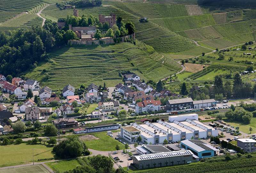
M 154 112 L 161 110 L 160 100 L 145 100 L 135 105 L 135 113 L 139 114 L 142 112 Z

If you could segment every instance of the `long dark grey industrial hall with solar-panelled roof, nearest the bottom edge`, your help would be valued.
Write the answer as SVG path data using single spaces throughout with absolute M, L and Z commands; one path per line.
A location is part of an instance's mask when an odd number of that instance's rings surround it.
M 133 156 L 133 163 L 139 169 L 178 165 L 191 163 L 192 161 L 193 153 L 189 150 Z

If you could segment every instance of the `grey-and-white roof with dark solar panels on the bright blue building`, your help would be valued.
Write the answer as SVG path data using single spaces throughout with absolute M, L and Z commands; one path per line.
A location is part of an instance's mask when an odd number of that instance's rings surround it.
M 189 148 L 197 151 L 197 152 L 202 152 L 205 150 L 213 150 L 213 151 L 220 151 L 214 147 L 212 147 L 211 145 L 208 145 L 206 143 L 204 143 L 202 140 L 197 140 L 197 139 L 187 139 L 184 141 L 180 141 L 180 143 L 183 143 L 185 145 L 187 145 Z

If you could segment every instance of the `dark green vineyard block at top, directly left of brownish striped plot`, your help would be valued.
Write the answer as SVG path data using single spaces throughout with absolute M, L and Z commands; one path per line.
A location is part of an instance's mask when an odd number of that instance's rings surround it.
M 185 5 L 182 4 L 153 4 L 163 18 L 188 16 Z

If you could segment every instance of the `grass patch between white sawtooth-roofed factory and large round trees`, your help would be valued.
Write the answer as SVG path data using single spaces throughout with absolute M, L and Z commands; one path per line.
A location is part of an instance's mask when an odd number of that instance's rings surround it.
M 112 132 L 117 132 L 116 130 L 112 130 Z M 84 143 L 88 148 L 100 151 L 116 151 L 116 145 L 120 145 L 120 150 L 125 149 L 124 144 L 117 141 L 115 138 L 112 138 L 107 135 L 106 131 L 103 132 L 95 132 L 89 133 L 89 135 L 93 135 L 96 138 L 94 139 L 85 139 Z M 97 139 L 99 138 L 99 139 Z

